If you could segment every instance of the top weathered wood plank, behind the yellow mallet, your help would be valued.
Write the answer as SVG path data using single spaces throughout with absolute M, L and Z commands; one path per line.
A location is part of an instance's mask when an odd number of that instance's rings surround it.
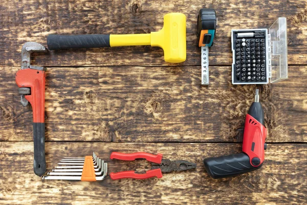
M 291 1 L 2 1 L 0 3 L 0 59 L 5 65 L 20 65 L 21 46 L 28 41 L 47 44 L 48 34 L 149 33 L 163 27 L 163 15 L 182 12 L 187 16 L 186 66 L 200 65 L 196 46 L 196 18 L 201 8 L 214 8 L 218 17 L 210 65 L 230 65 L 231 29 L 269 28 L 277 17 L 288 18 L 289 64 L 306 65 L 307 6 Z M 43 66 L 169 65 L 160 48 L 125 47 L 59 51 L 40 55 Z

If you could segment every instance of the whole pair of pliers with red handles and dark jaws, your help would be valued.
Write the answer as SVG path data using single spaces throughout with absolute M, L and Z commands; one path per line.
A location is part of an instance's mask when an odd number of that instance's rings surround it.
M 145 174 L 138 174 L 135 171 L 123 171 L 117 173 L 110 173 L 111 179 L 123 179 L 123 178 L 133 178 L 133 179 L 147 179 L 150 177 L 162 177 L 162 172 L 173 172 L 173 171 L 184 171 L 189 169 L 195 169 L 196 163 L 183 160 L 162 159 L 162 154 L 150 154 L 146 152 L 135 152 L 130 154 L 112 152 L 111 159 L 134 161 L 137 158 L 144 158 L 151 162 L 151 170 L 147 171 Z

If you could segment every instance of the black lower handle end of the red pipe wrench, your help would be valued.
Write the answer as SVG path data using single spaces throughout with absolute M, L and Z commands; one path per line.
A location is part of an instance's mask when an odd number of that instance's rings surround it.
M 46 172 L 45 123 L 33 122 L 34 173 L 42 176 Z

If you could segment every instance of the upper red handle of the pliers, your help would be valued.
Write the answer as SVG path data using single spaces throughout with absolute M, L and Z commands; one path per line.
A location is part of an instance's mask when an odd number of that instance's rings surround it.
M 146 152 L 135 152 L 135 153 L 120 153 L 120 152 L 112 152 L 111 159 L 120 159 L 120 160 L 126 160 L 126 161 L 133 161 L 137 158 L 143 158 L 147 161 L 155 162 L 155 163 L 161 163 L 162 162 L 162 154 L 149 154 Z M 119 172 L 120 173 L 120 172 Z

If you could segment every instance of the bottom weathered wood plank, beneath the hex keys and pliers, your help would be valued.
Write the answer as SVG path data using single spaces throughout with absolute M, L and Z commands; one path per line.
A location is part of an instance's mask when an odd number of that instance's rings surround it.
M 31 142 L 0 142 L 0 178 L 3 204 L 303 204 L 307 192 L 306 144 L 268 145 L 261 169 L 233 178 L 208 176 L 203 159 L 240 151 L 239 145 L 186 143 L 47 142 L 47 166 L 51 170 L 64 156 L 85 156 L 95 151 L 108 163 L 108 173 L 148 170 L 144 161 L 109 159 L 112 151 L 162 153 L 164 158 L 198 164 L 196 170 L 164 174 L 147 180 L 98 182 L 41 179 L 32 170 Z

